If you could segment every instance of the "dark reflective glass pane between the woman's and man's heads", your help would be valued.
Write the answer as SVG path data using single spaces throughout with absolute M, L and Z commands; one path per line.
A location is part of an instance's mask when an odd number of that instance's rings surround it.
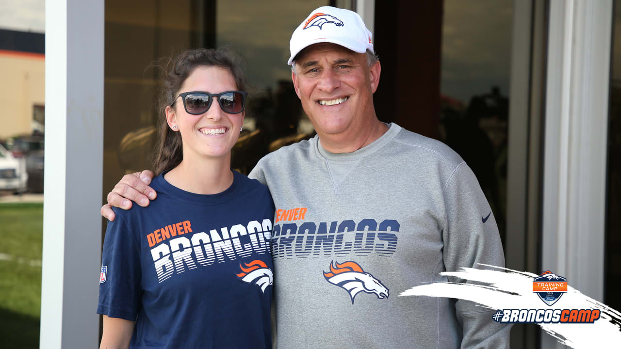
M 232 166 L 248 173 L 263 155 L 314 136 L 291 82 L 291 33 L 313 9 L 327 1 L 227 1 L 217 7 L 217 45 L 242 53 L 253 86 Z M 234 8 L 235 11 L 229 11 Z

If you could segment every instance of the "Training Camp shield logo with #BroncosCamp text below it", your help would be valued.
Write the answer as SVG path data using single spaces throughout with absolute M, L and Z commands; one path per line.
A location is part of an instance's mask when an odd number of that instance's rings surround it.
M 533 279 L 533 293 L 548 306 L 567 292 L 567 279 L 549 270 Z M 501 309 L 492 319 L 502 324 L 592 324 L 599 319 L 598 309 Z

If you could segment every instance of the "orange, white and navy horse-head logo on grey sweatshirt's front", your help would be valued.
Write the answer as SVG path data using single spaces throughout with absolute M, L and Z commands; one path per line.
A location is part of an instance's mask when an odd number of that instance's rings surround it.
M 324 278 L 329 283 L 349 292 L 351 304 L 353 304 L 356 294 L 360 292 L 374 293 L 379 299 L 388 298 L 388 288 L 373 275 L 362 270 L 355 261 L 338 263 L 333 260 L 330 263 L 330 271 L 324 271 Z

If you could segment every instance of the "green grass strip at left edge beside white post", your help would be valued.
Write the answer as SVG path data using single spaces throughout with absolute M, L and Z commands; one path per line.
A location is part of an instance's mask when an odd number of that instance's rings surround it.
M 2 348 L 39 348 L 43 204 L 0 204 Z

